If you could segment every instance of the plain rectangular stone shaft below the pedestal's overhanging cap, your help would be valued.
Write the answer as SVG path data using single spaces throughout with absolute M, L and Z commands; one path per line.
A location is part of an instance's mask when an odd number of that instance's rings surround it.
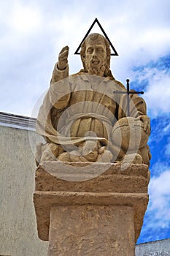
M 49 256 L 134 256 L 131 206 L 53 206 Z

